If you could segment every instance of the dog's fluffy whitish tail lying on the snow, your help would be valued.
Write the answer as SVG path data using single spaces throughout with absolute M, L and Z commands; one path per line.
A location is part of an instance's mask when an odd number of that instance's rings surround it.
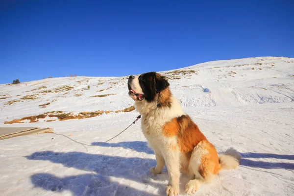
M 220 154 L 219 162 L 221 170 L 236 169 L 240 165 L 241 154 L 234 148 L 229 148 Z

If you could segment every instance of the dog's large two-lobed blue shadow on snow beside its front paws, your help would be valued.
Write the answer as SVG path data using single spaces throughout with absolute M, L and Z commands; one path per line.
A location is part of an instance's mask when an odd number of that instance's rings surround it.
M 25 156 L 25 158 L 50 161 L 51 163 L 62 164 L 67 168 L 94 172 L 93 174 L 61 178 L 49 173 L 38 173 L 31 176 L 32 183 L 37 187 L 51 191 L 70 190 L 75 196 L 100 195 L 98 192 L 104 189 L 105 192 L 102 195 L 111 195 L 111 193 L 126 196 L 153 195 L 132 188 L 136 187 L 135 185 L 132 187 L 120 185 L 118 182 L 113 182 L 111 177 L 129 179 L 131 180 L 130 184 L 136 182 L 143 184 L 145 187 L 154 187 L 158 190 L 159 195 L 164 195 L 165 186 L 169 179 L 166 170 L 158 175 L 153 175 L 149 172 L 149 168 L 156 165 L 154 159 L 53 151 L 34 152 L 29 156 Z M 156 183 L 155 181 L 161 183 Z M 81 190 L 84 190 L 84 192 Z

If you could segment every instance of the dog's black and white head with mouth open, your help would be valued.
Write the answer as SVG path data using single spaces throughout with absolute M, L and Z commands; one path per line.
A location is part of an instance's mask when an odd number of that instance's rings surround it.
M 157 95 L 169 87 L 169 82 L 159 73 L 143 73 L 139 77 L 133 75 L 128 79 L 129 96 L 135 101 L 151 102 Z

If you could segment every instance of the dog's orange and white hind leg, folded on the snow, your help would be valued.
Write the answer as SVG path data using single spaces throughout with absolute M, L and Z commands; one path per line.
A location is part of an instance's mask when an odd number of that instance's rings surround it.
M 195 193 L 201 185 L 204 183 L 210 183 L 215 177 L 215 167 L 219 167 L 215 164 L 214 156 L 215 153 L 213 147 L 208 141 L 200 142 L 193 150 L 189 163 L 190 173 L 195 175 L 195 179 L 190 180 L 186 184 L 186 193 Z M 216 150 L 215 150 L 216 151 Z M 218 157 L 217 157 L 218 158 Z

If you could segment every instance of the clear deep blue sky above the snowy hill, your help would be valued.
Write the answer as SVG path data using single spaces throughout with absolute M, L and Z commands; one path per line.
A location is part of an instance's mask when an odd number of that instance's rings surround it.
M 0 83 L 294 57 L 293 0 L 1 0 Z

